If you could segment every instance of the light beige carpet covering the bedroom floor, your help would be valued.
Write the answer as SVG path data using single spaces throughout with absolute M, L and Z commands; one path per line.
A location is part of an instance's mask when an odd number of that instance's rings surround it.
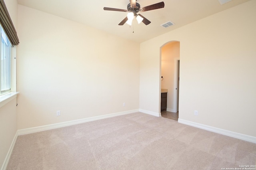
M 256 144 L 144 113 L 18 136 L 8 170 L 221 170 Z

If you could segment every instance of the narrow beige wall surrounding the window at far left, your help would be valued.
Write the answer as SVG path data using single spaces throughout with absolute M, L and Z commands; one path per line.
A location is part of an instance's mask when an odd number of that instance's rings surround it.
M 6 7 L 14 24 L 17 28 L 17 12 L 18 3 L 16 0 L 5 0 Z M 15 47 L 12 48 L 12 67 L 15 57 Z M 12 68 L 13 71 L 13 68 Z M 12 75 L 12 82 L 15 80 L 15 75 Z M 14 83 L 15 84 L 15 83 Z M 15 89 L 12 83 L 12 90 Z M 17 107 L 16 98 L 12 99 L 9 103 L 0 107 L 0 167 L 3 168 L 3 163 L 10 149 L 12 141 L 17 131 Z

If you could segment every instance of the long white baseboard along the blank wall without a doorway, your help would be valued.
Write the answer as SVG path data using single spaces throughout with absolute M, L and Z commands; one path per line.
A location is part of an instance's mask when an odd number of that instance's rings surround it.
M 77 124 L 80 124 L 80 123 L 86 123 L 86 122 L 90 122 L 90 121 L 96 121 L 96 120 L 106 119 L 106 118 L 110 118 L 110 117 L 116 117 L 116 116 L 120 116 L 120 115 L 127 115 L 127 114 L 130 114 L 130 113 L 136 113 L 136 112 L 139 112 L 139 109 L 124 111 L 124 112 L 119 112 L 119 113 L 112 113 L 112 114 L 96 116 L 96 117 L 89 117 L 89 118 L 84 118 L 84 119 L 78 119 L 78 120 L 74 120 L 74 121 L 55 123 L 55 124 L 52 124 L 52 125 L 45 125 L 45 126 L 40 126 L 40 127 L 20 129 L 20 130 L 17 130 L 17 134 L 18 135 L 23 135 L 23 134 L 41 132 L 41 131 L 44 131 L 44 130 L 50 130 L 50 129 L 61 128 L 61 127 L 68 127 L 68 126 L 77 125 Z

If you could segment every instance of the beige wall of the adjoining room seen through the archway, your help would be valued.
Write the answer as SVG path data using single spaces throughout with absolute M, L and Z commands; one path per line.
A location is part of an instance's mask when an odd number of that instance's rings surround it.
M 180 42 L 169 42 L 162 47 L 161 53 L 161 89 L 168 89 L 167 111 L 174 112 L 174 96 L 176 97 L 176 60 L 180 57 Z

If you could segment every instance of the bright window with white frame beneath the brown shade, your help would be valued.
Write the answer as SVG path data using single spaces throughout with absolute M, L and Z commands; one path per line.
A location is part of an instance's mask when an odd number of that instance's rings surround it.
M 11 43 L 4 30 L 1 30 L 0 93 L 11 90 Z

